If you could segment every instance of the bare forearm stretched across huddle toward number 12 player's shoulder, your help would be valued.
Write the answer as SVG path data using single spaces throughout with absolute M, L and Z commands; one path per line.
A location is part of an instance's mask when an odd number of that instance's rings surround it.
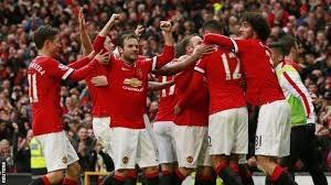
M 195 63 L 204 55 L 210 54 L 214 51 L 212 45 L 199 45 L 195 47 L 193 54 L 183 59 L 179 59 L 178 63 L 167 64 L 161 68 L 153 70 L 153 74 L 162 75 L 162 76 L 171 76 L 175 75 L 188 67 L 193 67 Z

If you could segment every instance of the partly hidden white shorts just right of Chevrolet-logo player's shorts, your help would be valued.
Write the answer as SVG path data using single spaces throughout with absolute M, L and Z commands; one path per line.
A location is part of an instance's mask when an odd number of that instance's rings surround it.
M 177 162 L 172 121 L 159 121 L 153 123 L 157 138 L 160 164 Z

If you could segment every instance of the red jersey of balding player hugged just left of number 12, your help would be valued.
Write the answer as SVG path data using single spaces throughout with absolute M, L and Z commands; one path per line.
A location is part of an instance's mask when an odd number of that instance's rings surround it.
M 184 96 L 194 69 L 189 68 L 175 76 L 175 94 L 178 99 Z M 185 108 L 178 116 L 174 116 L 174 123 L 178 126 L 207 126 L 209 124 L 209 91 L 204 85 Z

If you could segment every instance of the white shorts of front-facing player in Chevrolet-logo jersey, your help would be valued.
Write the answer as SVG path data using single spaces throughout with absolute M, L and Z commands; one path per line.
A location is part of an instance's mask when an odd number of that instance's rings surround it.
M 111 157 L 115 170 L 159 165 L 150 135 L 146 129 L 111 128 Z

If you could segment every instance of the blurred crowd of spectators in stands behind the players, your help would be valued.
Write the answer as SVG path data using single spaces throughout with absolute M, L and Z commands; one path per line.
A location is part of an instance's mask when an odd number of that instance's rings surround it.
M 321 161 L 331 170 L 331 1 L 330 0 L 2 0 L 0 1 L 0 157 L 8 172 L 30 172 L 29 142 L 32 138 L 31 106 L 28 98 L 26 67 L 38 55 L 32 34 L 51 24 L 61 31 L 63 46 L 58 61 L 68 64 L 82 57 L 78 11 L 84 8 L 87 31 L 99 31 L 113 13 L 121 15 L 109 32 L 114 44 L 124 30 L 143 25 L 140 54 L 154 56 L 162 50 L 161 20 L 171 20 L 175 41 L 200 33 L 207 20 L 224 23 L 224 34 L 238 36 L 244 11 L 260 11 L 269 21 L 268 43 L 281 35 L 298 41 L 301 77 L 314 94 L 317 132 Z M 254 65 L 254 64 L 253 64 Z M 147 111 L 153 120 L 158 94 L 150 92 Z M 111 170 L 110 157 L 96 142 L 92 129 L 92 104 L 85 81 L 63 83 L 63 122 L 76 149 L 83 171 Z M 109 102 L 111 104 L 111 102 Z M 252 109 L 255 110 L 255 109 Z M 45 124 L 47 118 L 45 118 Z M 305 167 L 298 165 L 298 171 Z

